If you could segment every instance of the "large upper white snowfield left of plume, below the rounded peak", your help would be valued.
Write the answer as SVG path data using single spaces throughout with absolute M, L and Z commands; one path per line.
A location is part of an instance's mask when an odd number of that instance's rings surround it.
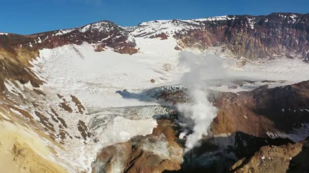
M 156 49 L 156 40 L 145 42 L 140 53 L 132 56 L 118 54 L 111 49 L 94 52 L 89 44 L 74 46 L 85 59 L 73 51 L 72 45 L 54 50 L 44 49 L 40 55 L 46 65 L 43 64 L 40 75 L 48 80 L 46 86 L 64 93 L 71 92 L 92 107 L 136 106 L 135 101 L 126 101 L 115 92 L 143 89 L 153 85 L 150 79 L 160 81 L 160 77 L 166 76 L 158 71 L 162 71 L 160 68 L 169 63 L 166 57 L 170 54 L 158 54 L 161 48 Z M 165 46 L 163 51 L 173 50 L 169 41 L 162 41 L 161 45 Z M 145 54 L 151 57 L 145 58 Z M 127 103 L 121 104 L 121 101 Z

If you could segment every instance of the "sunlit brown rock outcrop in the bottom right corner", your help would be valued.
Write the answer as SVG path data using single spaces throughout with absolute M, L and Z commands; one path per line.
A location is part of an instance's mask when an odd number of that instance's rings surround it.
M 234 172 L 306 172 L 309 164 L 308 141 L 281 146 L 264 146 L 252 157 L 233 166 Z

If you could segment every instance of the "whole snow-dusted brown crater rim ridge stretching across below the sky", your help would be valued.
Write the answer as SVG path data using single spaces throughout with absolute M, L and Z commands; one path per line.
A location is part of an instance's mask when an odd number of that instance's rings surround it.
M 175 49 L 207 50 L 220 47 L 218 53 L 231 52 L 236 58 L 289 57 L 307 61 L 309 14 L 272 13 L 267 16 L 228 15 L 192 20 L 155 20 L 137 26 L 121 27 L 100 21 L 78 28 L 37 33 L 31 39 L 1 34 L 0 41 L 29 49 L 55 48 L 67 44 L 94 44 L 115 52 L 134 54 L 136 37 L 176 39 Z

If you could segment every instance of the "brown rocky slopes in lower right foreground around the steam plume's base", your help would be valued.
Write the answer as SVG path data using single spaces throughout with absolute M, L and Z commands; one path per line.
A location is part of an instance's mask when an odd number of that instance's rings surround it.
M 155 97 L 186 102 L 179 99 L 185 92 L 174 91 Z M 174 114 L 169 120 L 159 119 L 151 135 L 104 148 L 92 163 L 93 170 L 109 172 L 119 164 L 125 172 L 306 170 L 301 158 L 306 158 L 307 142 L 303 140 L 309 135 L 308 93 L 309 81 L 273 89 L 262 86 L 237 94 L 213 92 L 209 99 L 219 113 L 209 129 L 212 136 L 204 138 L 200 147 L 180 152 L 185 139 L 179 137 L 183 129 L 171 123 L 179 123 L 177 116 L 181 115 Z M 149 147 L 144 147 L 145 140 Z M 126 157 L 115 158 L 119 156 Z

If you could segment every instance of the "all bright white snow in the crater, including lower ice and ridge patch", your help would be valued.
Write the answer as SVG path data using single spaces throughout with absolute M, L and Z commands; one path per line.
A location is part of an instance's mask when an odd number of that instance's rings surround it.
M 146 30 L 150 25 L 151 27 L 157 25 L 157 28 L 171 26 L 167 21 L 141 24 Z M 88 26 L 84 27 L 84 29 L 87 28 Z M 167 30 L 175 29 L 177 26 Z M 89 140 L 87 145 L 67 141 L 65 148 L 68 151 L 65 153 L 59 151 L 61 153 L 59 155 L 68 162 L 72 162 L 71 158 L 74 158 L 72 165 L 89 168 L 102 147 L 125 142 L 135 135 L 150 134 L 152 128 L 157 125 L 153 116 L 164 112 L 158 112 L 160 107 L 158 102 L 145 98 L 146 96 L 141 93 L 160 86 L 177 85 L 182 74 L 186 72 L 177 67 L 179 52 L 174 50 L 177 44 L 173 37 L 165 40 L 132 38 L 139 48 L 139 52 L 133 55 L 118 54 L 108 47 L 106 51 L 95 52 L 94 45 L 84 42 L 82 45 L 66 45 L 40 50 L 40 57 L 31 62 L 34 65 L 33 71 L 46 81 L 40 87 L 41 90 L 66 96 L 74 95 L 89 113 L 89 116 L 79 115 L 78 117 L 66 115 L 66 122 L 71 123 L 68 126 L 74 126 L 76 120 L 82 119 L 88 124 L 94 138 L 100 141 L 94 143 Z M 265 84 L 261 82 L 262 80 L 287 80 L 284 83 L 267 83 L 270 87 L 274 87 L 306 80 L 309 76 L 306 70 L 308 65 L 300 60 L 282 58 L 266 64 L 248 63 L 243 67 L 237 66 L 236 59 L 222 60 L 229 80 L 219 87 L 213 85 L 211 88 L 213 90 L 246 91 Z M 154 79 L 156 83 L 151 83 L 150 79 Z M 251 79 L 257 82 L 245 83 L 242 87 L 230 89 L 228 86 L 233 81 L 231 79 Z M 15 90 L 8 81 L 5 84 L 8 85 L 9 90 Z M 123 90 L 130 93 L 129 97 L 118 94 Z M 244 118 L 247 117 L 244 115 Z M 74 128 L 67 131 L 69 134 L 76 133 Z

